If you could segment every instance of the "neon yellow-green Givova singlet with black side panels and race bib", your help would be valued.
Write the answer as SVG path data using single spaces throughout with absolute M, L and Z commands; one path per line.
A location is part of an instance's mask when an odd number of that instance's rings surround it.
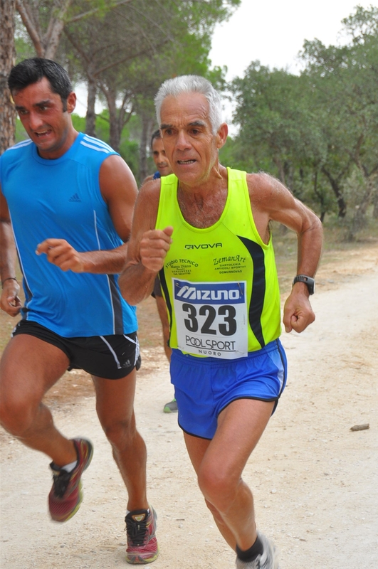
M 280 294 L 272 239 L 256 230 L 246 172 L 228 169 L 219 220 L 199 229 L 184 220 L 178 180 L 162 178 L 157 229 L 174 228 L 159 272 L 169 345 L 193 356 L 240 358 L 280 336 Z

